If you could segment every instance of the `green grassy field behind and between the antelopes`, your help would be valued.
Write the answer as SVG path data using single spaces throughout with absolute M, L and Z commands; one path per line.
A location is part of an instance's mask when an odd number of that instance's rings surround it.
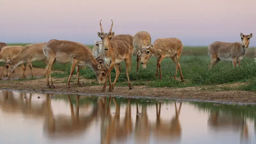
M 26 44 L 8 44 L 8 45 L 26 45 Z M 92 49 L 93 45 L 89 45 Z M 204 86 L 228 83 L 246 82 L 246 84 L 236 87 L 239 90 L 252 90 L 256 91 L 256 63 L 254 62 L 254 49 L 249 48 L 248 53 L 241 62 L 241 66 L 233 68 L 231 62 L 220 61 L 216 66 L 209 70 L 208 65 L 210 58 L 207 54 L 207 47 L 189 47 L 184 46 L 180 58 L 180 65 L 185 82 L 174 80 L 175 64 L 171 59 L 164 59 L 161 63 L 163 79 L 159 80 L 156 75 L 156 58 L 151 58 L 148 61 L 148 68 L 142 69 L 139 65 L 139 72 L 136 72 L 136 55 L 132 57 L 132 69 L 129 77 L 132 85 L 147 85 L 150 87 L 188 87 L 188 86 Z M 43 61 L 33 62 L 33 67 L 45 68 L 46 64 Z M 3 65 L 3 63 L 1 63 Z M 120 74 L 117 85 L 128 86 L 125 74 L 125 63 L 121 63 L 122 73 Z M 55 63 L 52 67 L 53 70 L 62 70 L 64 73 L 54 73 L 54 77 L 66 77 L 66 81 L 70 74 L 71 64 L 60 65 Z M 75 72 L 76 74 L 76 72 Z M 96 79 L 95 74 L 90 68 L 82 69 L 80 71 L 81 78 Z M 177 77 L 180 77 L 179 71 Z M 115 70 L 111 71 L 111 80 L 115 79 Z M 76 78 L 73 77 L 72 81 Z M 92 85 L 97 85 L 93 83 Z M 223 87 L 225 90 L 232 89 L 231 87 Z

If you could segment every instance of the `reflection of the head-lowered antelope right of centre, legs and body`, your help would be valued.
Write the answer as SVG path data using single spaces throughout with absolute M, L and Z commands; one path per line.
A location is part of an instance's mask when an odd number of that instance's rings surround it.
M 163 137 L 169 138 L 172 140 L 178 140 L 181 139 L 181 126 L 180 126 L 180 110 L 182 106 L 182 102 L 180 102 L 179 110 L 177 110 L 176 102 L 174 102 L 175 105 L 175 116 L 171 119 L 171 121 L 163 121 L 160 118 L 161 115 L 161 102 L 159 104 L 158 109 L 158 102 L 156 102 L 156 124 L 153 128 L 153 135 L 156 137 L 156 139 L 162 139 Z

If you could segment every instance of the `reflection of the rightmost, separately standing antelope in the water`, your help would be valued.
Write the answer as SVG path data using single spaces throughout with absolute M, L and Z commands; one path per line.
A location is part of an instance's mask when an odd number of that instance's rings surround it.
M 233 116 L 229 113 L 223 113 L 219 110 L 211 111 L 208 125 L 213 131 L 241 131 L 240 139 L 248 140 L 248 125 L 243 117 Z

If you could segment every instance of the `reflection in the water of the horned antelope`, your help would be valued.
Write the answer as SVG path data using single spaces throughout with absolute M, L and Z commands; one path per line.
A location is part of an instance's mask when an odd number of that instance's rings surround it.
M 110 113 L 111 100 L 115 105 L 114 116 Z M 110 144 L 112 141 L 124 140 L 132 132 L 132 119 L 131 119 L 131 99 L 128 100 L 128 104 L 125 110 L 125 117 L 120 122 L 120 103 L 117 104 L 115 98 L 110 97 L 107 105 L 106 97 L 104 97 L 104 104 L 101 109 L 103 115 L 101 115 L 101 144 Z M 123 123 L 122 123 L 123 122 Z

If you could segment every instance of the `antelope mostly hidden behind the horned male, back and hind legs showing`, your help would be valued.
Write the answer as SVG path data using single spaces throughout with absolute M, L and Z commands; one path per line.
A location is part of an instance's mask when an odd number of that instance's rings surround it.
M 129 69 L 128 69 L 130 71 L 131 67 L 132 67 L 132 54 L 133 54 L 133 50 L 134 50 L 133 36 L 128 35 L 128 34 L 120 34 L 120 35 L 115 35 L 111 38 L 111 41 L 116 41 L 116 40 L 126 41 L 130 45 L 130 64 L 129 64 Z M 118 66 L 119 66 L 119 71 L 121 73 L 122 70 L 121 70 L 120 63 L 118 64 Z

